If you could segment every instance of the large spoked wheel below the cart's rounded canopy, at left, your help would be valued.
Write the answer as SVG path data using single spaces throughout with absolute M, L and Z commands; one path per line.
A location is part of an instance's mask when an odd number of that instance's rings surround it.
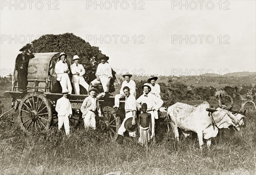
M 41 93 L 28 93 L 18 108 L 21 128 L 26 132 L 48 130 L 52 120 L 52 104 Z

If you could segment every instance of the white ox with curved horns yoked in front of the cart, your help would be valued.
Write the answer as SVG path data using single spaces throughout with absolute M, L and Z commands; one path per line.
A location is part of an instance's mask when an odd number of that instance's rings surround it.
M 230 97 L 230 96 L 228 96 Z M 189 105 L 177 102 L 168 107 L 167 113 L 171 120 L 172 130 L 175 138 L 179 141 L 178 127 L 187 137 L 191 132 L 198 134 L 199 146 L 202 148 L 203 138 L 207 140 L 207 147 L 211 145 L 211 138 L 216 137 L 219 130 L 230 129 L 233 127 L 240 130 L 245 127 L 245 112 L 232 111 L 233 99 L 231 106 L 221 104 L 221 95 L 219 96 L 219 108 L 211 109 L 208 102 L 199 105 Z

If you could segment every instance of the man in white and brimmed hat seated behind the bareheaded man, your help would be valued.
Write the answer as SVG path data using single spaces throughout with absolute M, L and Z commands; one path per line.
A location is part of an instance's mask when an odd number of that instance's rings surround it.
M 123 88 L 125 86 L 130 88 L 130 94 L 134 97 L 136 97 L 136 84 L 133 80 L 131 80 L 131 74 L 125 73 L 122 75 L 125 78 L 125 81 L 122 82 L 122 87 L 120 89 L 120 94 L 115 95 L 115 108 L 116 110 L 119 108 L 120 99 L 125 97 L 125 94 L 123 93 Z

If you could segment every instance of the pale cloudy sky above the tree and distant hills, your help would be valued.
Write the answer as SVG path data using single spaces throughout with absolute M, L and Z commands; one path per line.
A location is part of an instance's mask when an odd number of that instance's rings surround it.
M 73 33 L 117 73 L 188 76 L 256 72 L 256 1 L 1 0 L 1 76 L 26 43 Z M 67 51 L 68 52 L 68 51 Z

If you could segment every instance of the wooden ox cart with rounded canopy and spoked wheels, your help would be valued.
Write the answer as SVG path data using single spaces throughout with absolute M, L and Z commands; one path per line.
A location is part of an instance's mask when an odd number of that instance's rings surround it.
M 35 53 L 35 58 L 29 60 L 28 86 L 23 92 L 18 91 L 17 71 L 14 73 L 12 88 L 6 93 L 12 96 L 12 107 L 18 110 L 18 121 L 25 132 L 48 130 L 51 125 L 57 124 L 58 117 L 55 111 L 57 99 L 62 97 L 61 85 L 56 81 L 54 71 L 60 53 Z M 73 64 L 73 56 L 67 54 L 67 65 Z M 71 75 L 70 75 L 71 78 Z M 82 122 L 81 104 L 88 95 L 71 94 L 68 98 L 73 110 L 70 118 L 71 125 Z M 96 127 L 108 133 L 113 140 L 117 137 L 121 119 L 125 117 L 124 101 L 120 101 L 123 110 L 114 113 L 114 97 L 107 100 L 99 99 L 102 116 L 96 119 Z

